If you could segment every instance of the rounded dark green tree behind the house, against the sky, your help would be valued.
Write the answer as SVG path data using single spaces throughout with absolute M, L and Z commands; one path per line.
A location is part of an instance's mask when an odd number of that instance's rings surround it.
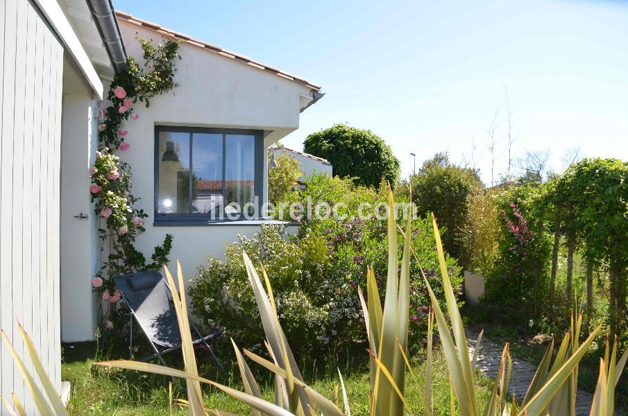
M 394 186 L 399 180 L 399 160 L 371 130 L 336 124 L 307 136 L 303 149 L 328 159 L 334 175 L 351 177 L 356 185 L 378 187 L 386 180 Z

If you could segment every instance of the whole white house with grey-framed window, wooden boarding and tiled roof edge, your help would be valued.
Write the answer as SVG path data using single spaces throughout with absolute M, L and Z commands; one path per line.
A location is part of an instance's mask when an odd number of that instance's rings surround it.
M 158 24 L 116 16 L 110 0 L 3 0 L 0 32 L 0 324 L 20 355 L 14 317 L 24 324 L 60 389 L 61 341 L 93 339 L 96 329 L 99 302 L 90 281 L 103 253 L 89 168 L 103 94 L 127 55 L 141 62 L 135 37 L 183 41 L 178 87 L 126 126 L 130 149 L 122 157 L 132 166 L 139 207 L 150 214 L 137 248 L 150 254 L 173 234 L 169 258 L 182 261 L 188 278 L 208 255 L 221 257 L 237 234 L 252 236 L 269 220 L 228 220 L 218 202 L 264 204 L 267 148 L 298 128 L 321 87 Z M 196 177 L 187 196 L 176 189 L 182 171 Z M 182 206 L 180 198 L 191 202 Z M 14 390 L 35 413 L 1 343 L 0 360 L 1 395 Z

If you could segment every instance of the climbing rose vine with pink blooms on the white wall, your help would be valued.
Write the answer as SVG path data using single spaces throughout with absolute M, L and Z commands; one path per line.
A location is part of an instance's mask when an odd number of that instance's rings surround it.
M 139 118 L 139 103 L 148 107 L 151 98 L 176 87 L 173 76 L 175 61 L 181 59 L 177 53 L 180 41 L 166 40 L 155 45 L 152 39 L 136 39 L 144 51 L 144 66 L 140 67 L 133 57 L 128 57 L 126 71 L 115 76 L 107 96 L 111 104 L 104 111 L 104 120 L 98 126 L 100 150 L 96 152 L 96 162 L 90 168 L 90 194 L 102 224 L 100 239 L 103 247 L 106 245 L 109 248 L 108 259 L 103 261 L 100 272 L 92 279 L 92 287 L 103 302 L 113 305 L 120 300 L 113 278 L 162 268 L 168 262 L 172 246 L 172 236 L 167 234 L 162 245 L 155 247 L 150 263 L 142 252 L 135 249 L 135 239 L 146 231 L 144 221 L 148 214 L 135 207 L 139 198 L 131 191 L 130 166 L 121 162 L 115 153 L 130 148 L 133 125 L 127 128 L 126 123 Z M 116 321 L 124 322 L 117 316 L 117 311 L 121 310 L 110 307 L 105 312 L 105 329 L 113 329 Z

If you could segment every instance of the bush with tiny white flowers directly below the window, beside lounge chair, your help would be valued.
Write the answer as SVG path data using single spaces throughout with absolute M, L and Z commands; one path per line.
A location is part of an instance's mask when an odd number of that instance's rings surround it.
M 273 286 L 282 325 L 298 340 L 298 347 L 320 344 L 328 306 L 308 293 L 303 270 L 304 251 L 295 241 L 282 235 L 280 225 L 262 225 L 253 239 L 238 236 L 227 246 L 224 261 L 207 259 L 191 281 L 189 295 L 192 309 L 211 326 L 224 326 L 239 343 L 261 350 L 264 333 L 255 296 L 246 277 L 242 251 L 255 264 L 264 263 Z M 260 275 L 262 273 L 258 266 Z

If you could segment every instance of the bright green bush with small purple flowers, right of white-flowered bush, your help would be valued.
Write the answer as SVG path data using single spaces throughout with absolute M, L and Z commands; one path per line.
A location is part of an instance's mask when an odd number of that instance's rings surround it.
M 343 334 L 342 338 L 349 333 L 352 335 L 350 339 L 359 340 L 359 334 L 362 333 L 360 325 L 363 322 L 360 318 L 359 300 L 355 296 L 356 286 L 359 284 L 364 288 L 364 271 L 366 266 L 371 266 L 375 271 L 380 293 L 382 296 L 385 295 L 384 282 L 388 268 L 384 255 L 387 252 L 385 216 L 378 217 L 375 215 L 377 213 L 360 212 L 360 205 L 368 202 L 382 211 L 387 201 L 387 184 L 382 183 L 380 189 L 375 190 L 355 186 L 353 181 L 348 179 L 314 174 L 308 178 L 306 185 L 305 190 L 292 193 L 291 198 L 300 200 L 304 205 L 311 200 L 310 205 L 313 207 L 316 207 L 319 202 L 329 202 L 332 206 L 339 205 L 340 202 L 345 204 L 342 209 L 338 209 L 340 214 L 346 216 L 344 220 L 338 220 L 334 216 L 321 218 L 310 215 L 306 211 L 300 223 L 298 238 L 325 240 L 329 261 L 324 271 L 323 281 L 319 285 L 328 288 L 330 296 L 334 299 L 334 312 L 330 324 L 334 327 L 334 331 Z M 396 199 L 396 202 L 407 207 L 409 200 Z M 403 222 L 404 219 L 400 215 L 398 223 L 403 225 Z M 431 219 L 416 218 L 412 221 L 411 242 L 418 259 L 418 263 L 414 259 L 411 261 L 410 271 L 410 345 L 416 347 L 425 342 L 427 331 L 425 318 L 430 305 L 423 274 L 432 284 L 443 306 L 445 299 L 441 292 L 439 273 L 436 271 L 439 263 Z M 398 248 L 400 256 L 402 243 L 400 239 Z M 447 256 L 446 262 L 455 294 L 460 298 L 461 268 L 452 257 Z

